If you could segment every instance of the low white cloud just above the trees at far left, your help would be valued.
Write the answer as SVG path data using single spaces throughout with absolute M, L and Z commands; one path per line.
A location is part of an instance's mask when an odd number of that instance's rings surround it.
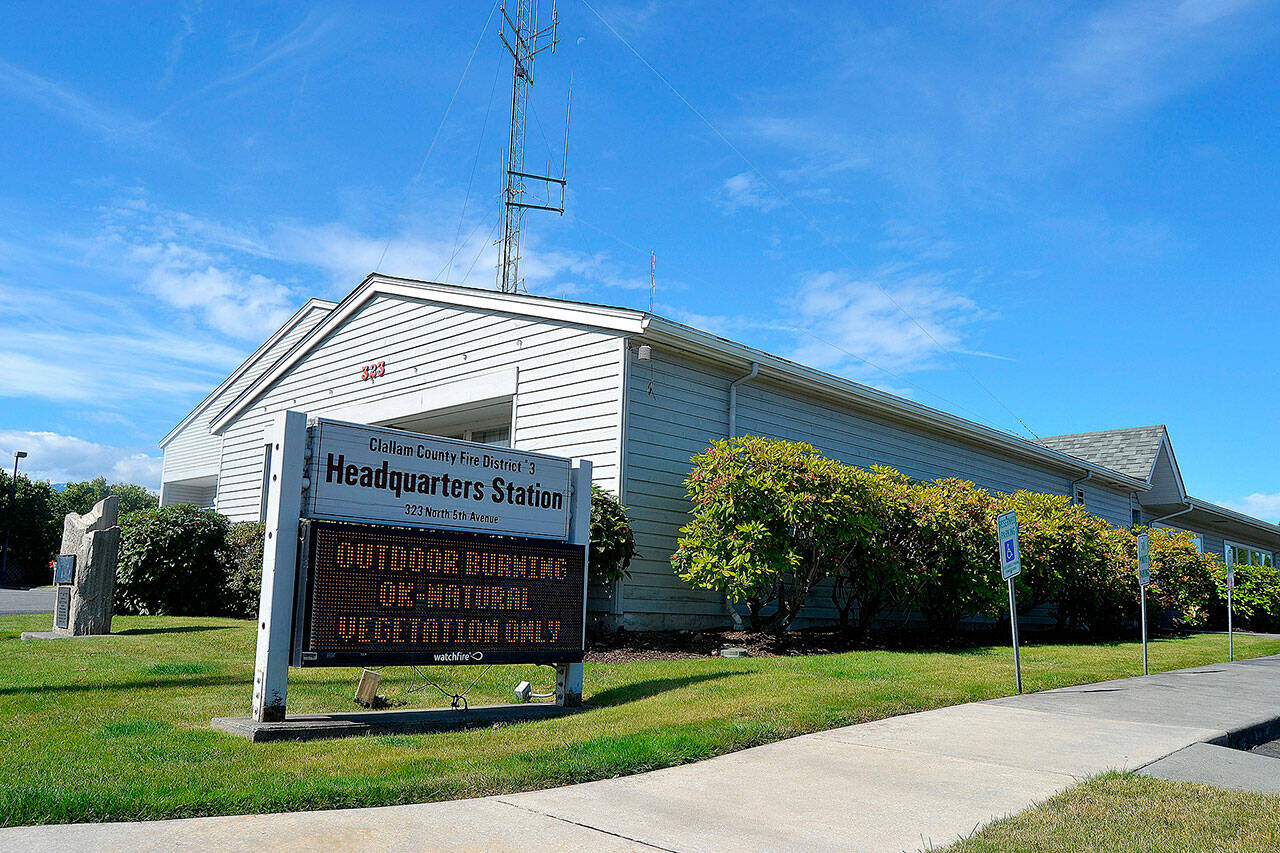
M 138 448 L 113 447 L 74 435 L 50 432 L 0 429 L 0 457 L 26 451 L 27 476 L 50 483 L 69 483 L 105 476 L 110 483 L 137 483 L 160 488 L 164 460 Z

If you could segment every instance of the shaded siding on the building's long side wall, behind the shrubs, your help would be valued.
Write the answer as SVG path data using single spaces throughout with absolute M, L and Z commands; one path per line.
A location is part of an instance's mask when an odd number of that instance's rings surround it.
M 678 529 L 689 517 L 684 479 L 690 459 L 728 430 L 728 386 L 745 369 L 730 370 L 654 348 L 653 360 L 632 357 L 626 425 L 626 502 L 637 557 L 623 584 L 623 625 L 652 626 L 684 619 L 694 625 L 724 619 L 716 593 L 690 589 L 671 567 Z M 649 391 L 649 383 L 653 391 Z M 870 409 L 818 398 L 768 379 L 739 386 L 739 434 L 803 441 L 850 465 L 888 465 L 916 479 L 959 476 L 1011 492 L 1066 494 L 1069 473 L 961 442 L 922 426 L 891 420 Z M 1130 521 L 1129 494 L 1085 484 L 1091 511 L 1112 524 Z M 810 620 L 835 619 L 827 585 L 814 590 Z

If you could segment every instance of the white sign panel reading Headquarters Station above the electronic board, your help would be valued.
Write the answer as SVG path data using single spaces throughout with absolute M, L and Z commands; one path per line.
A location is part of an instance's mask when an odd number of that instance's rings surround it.
M 303 517 L 570 538 L 563 457 L 328 418 L 312 419 L 307 433 Z

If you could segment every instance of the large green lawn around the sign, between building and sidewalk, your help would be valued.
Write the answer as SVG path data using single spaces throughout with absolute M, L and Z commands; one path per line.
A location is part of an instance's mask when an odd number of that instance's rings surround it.
M 49 616 L 0 617 L 0 825 L 424 802 L 677 765 L 781 738 L 1012 692 L 1007 648 L 588 665 L 588 711 L 502 729 L 250 744 L 214 731 L 248 710 L 252 622 L 118 617 L 110 638 L 23 643 Z M 1220 661 L 1225 637 L 1157 642 L 1153 669 Z M 1280 653 L 1238 637 L 1236 654 Z M 1029 690 L 1137 675 L 1134 643 L 1027 646 Z M 467 684 L 470 667 L 433 670 Z M 550 670 L 494 667 L 472 704 Z M 357 670 L 294 670 L 289 711 L 353 710 Z M 407 671 L 383 692 L 406 695 Z

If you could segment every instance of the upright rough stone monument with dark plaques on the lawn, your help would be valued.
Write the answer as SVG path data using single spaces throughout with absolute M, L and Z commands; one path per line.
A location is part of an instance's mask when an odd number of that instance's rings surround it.
M 120 551 L 119 498 L 109 494 L 86 512 L 67 514 L 54 574 L 54 635 L 110 634 L 115 561 Z

